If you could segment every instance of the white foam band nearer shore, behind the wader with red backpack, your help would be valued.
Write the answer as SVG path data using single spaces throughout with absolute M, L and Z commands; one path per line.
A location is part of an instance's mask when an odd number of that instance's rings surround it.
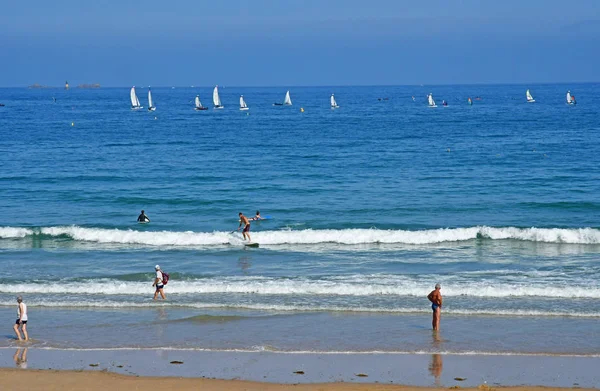
M 527 285 L 525 285 L 527 284 Z M 445 283 L 444 297 L 546 297 L 546 298 L 600 298 L 600 286 L 551 283 L 507 283 L 494 281 Z M 406 276 L 373 275 L 347 276 L 311 280 L 305 278 L 270 277 L 215 277 L 189 281 L 171 280 L 166 288 L 176 294 L 252 294 L 252 295 L 302 295 L 302 296 L 409 296 L 426 297 L 431 291 L 431 279 L 409 280 Z M 147 282 L 116 281 L 109 279 L 79 282 L 4 283 L 0 292 L 11 294 L 89 294 L 89 295 L 147 295 Z

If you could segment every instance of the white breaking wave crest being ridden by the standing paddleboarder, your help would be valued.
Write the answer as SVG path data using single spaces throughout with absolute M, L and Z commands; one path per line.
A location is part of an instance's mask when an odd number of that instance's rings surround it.
M 215 246 L 240 244 L 238 236 L 225 231 L 136 231 L 132 229 L 83 228 L 57 226 L 42 228 L 0 227 L 0 238 L 24 238 L 30 235 L 68 236 L 76 241 L 147 246 Z M 430 230 L 323 229 L 254 232 L 262 245 L 357 244 L 433 244 L 460 242 L 478 238 L 521 240 L 543 243 L 600 244 L 600 230 L 594 228 L 516 228 L 477 226 Z

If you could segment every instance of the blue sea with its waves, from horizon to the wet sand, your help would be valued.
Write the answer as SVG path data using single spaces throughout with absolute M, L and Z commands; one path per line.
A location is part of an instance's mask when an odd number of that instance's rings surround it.
M 598 354 L 599 87 L 0 89 L 0 317 L 23 295 L 56 348 Z

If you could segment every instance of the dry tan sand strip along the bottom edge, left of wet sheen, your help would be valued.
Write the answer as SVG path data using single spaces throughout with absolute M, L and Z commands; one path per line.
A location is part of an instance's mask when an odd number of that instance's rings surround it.
M 4 390 L 89 390 L 104 391 L 115 390 L 148 390 L 160 385 L 166 390 L 214 390 L 214 391 L 434 391 L 439 387 L 411 387 L 388 384 L 352 384 L 352 383 L 318 383 L 318 384 L 271 384 L 249 382 L 242 380 L 217 380 L 195 378 L 168 378 L 168 377 L 136 377 L 125 376 L 109 372 L 89 371 L 53 371 L 30 370 L 23 373 L 18 369 L 1 369 Z M 506 390 L 506 391 L 558 391 L 565 388 L 553 387 L 489 387 L 480 385 L 475 388 L 461 388 L 463 390 Z M 577 388 L 579 390 L 586 390 Z M 591 389 L 588 389 L 591 390 Z

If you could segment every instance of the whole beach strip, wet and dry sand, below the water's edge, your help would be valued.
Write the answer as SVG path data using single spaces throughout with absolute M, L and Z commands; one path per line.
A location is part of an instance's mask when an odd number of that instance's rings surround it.
M 0 349 L 3 390 L 593 389 L 599 367 L 596 356 Z

